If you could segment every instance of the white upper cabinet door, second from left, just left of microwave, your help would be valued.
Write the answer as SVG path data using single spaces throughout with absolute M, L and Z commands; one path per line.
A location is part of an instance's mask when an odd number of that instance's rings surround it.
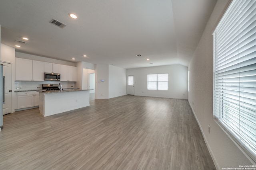
M 33 60 L 32 63 L 32 80 L 44 81 L 44 62 Z

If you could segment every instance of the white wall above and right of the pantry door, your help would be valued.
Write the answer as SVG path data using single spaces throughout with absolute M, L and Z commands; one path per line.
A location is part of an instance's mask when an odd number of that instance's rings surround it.
M 14 93 L 15 80 L 15 48 L 1 43 L 1 59 L 0 61 L 12 64 L 12 112 L 16 109 L 16 93 Z

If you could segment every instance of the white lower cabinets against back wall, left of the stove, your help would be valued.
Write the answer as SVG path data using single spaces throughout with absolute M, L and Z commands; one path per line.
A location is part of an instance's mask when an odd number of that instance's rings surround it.
M 39 106 L 38 92 L 17 92 L 17 109 L 34 106 Z

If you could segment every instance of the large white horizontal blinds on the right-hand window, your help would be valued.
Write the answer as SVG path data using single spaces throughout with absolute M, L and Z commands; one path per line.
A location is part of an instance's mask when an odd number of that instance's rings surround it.
M 233 0 L 213 35 L 214 118 L 256 162 L 256 0 Z

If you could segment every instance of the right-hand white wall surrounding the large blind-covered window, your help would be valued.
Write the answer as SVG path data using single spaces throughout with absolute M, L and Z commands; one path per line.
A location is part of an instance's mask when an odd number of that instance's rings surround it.
M 212 116 L 213 92 L 213 36 L 229 0 L 218 0 L 206 25 L 200 43 L 189 65 L 190 92 L 188 101 L 210 150 L 217 169 L 239 168 L 252 164 L 231 139 L 220 129 Z M 210 133 L 208 133 L 210 125 Z

